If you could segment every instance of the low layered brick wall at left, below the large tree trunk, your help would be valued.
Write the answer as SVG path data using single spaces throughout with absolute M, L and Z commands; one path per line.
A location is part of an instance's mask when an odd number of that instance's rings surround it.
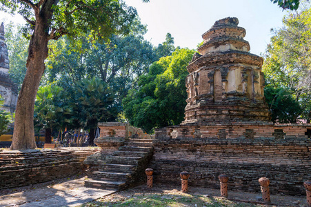
M 3 150 L 0 152 L 0 189 L 27 186 L 77 175 L 83 161 L 97 149 Z

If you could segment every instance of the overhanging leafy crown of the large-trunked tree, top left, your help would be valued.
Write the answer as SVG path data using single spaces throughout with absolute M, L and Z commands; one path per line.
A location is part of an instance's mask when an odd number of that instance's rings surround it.
M 78 37 L 90 30 L 107 39 L 110 34 L 128 33 L 137 15 L 135 8 L 119 0 L 1 0 L 0 3 L 1 10 L 18 12 L 28 21 L 25 34 L 31 35 L 35 26 L 45 23 L 42 26 L 48 29 L 48 39 L 59 39 L 63 34 Z

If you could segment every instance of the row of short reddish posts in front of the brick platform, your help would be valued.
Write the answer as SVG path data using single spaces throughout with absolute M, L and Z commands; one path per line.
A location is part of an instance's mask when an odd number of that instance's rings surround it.
M 147 168 L 146 169 L 146 175 L 147 175 L 147 187 L 152 188 L 153 186 L 153 170 L 152 168 Z M 182 193 L 187 193 L 188 192 L 188 179 L 190 177 L 190 173 L 183 171 L 180 173 L 181 177 L 181 192 Z M 220 181 L 220 193 L 221 197 L 228 197 L 228 180 L 229 177 L 227 175 L 219 175 L 218 177 Z M 270 180 L 266 177 L 261 177 L 259 178 L 259 184 L 261 186 L 261 195 L 262 195 L 262 200 L 265 203 L 270 203 L 270 189 L 269 189 L 269 184 Z M 305 181 L 303 183 L 303 186 L 305 186 L 305 191 L 307 193 L 307 203 L 308 207 L 311 207 L 311 181 Z

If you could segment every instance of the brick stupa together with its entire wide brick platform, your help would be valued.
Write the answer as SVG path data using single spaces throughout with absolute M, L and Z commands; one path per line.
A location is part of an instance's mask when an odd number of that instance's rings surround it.
M 237 18 L 203 34 L 187 69 L 185 120 L 154 130 L 154 182 L 175 183 L 190 172 L 190 186 L 258 190 L 269 177 L 273 193 L 301 195 L 310 179 L 311 124 L 274 124 L 263 96 L 263 59 L 252 55 Z

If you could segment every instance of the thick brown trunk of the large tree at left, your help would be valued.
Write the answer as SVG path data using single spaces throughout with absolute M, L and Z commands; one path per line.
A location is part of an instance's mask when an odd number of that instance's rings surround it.
M 38 14 L 39 15 L 39 14 Z M 47 21 L 36 18 L 28 48 L 27 71 L 17 99 L 11 150 L 37 148 L 34 139 L 34 100 L 48 57 Z

